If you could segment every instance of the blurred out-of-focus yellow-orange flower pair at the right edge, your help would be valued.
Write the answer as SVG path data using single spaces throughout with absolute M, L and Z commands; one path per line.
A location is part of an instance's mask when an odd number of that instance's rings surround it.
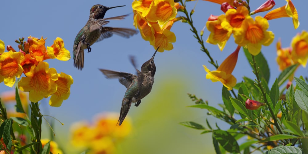
M 308 59 L 308 33 L 303 30 L 291 41 L 291 47 L 282 48 L 281 42 L 277 42 L 277 63 L 280 70 L 294 64 L 301 64 L 306 67 Z

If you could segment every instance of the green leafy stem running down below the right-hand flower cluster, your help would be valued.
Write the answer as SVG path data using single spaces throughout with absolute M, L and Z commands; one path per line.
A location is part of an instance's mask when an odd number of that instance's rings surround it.
M 254 69 L 254 74 L 256 75 L 257 77 L 257 82 L 258 82 L 258 87 L 261 89 L 261 93 L 262 93 L 262 96 L 263 96 L 263 99 L 264 99 L 264 103 L 266 103 L 268 105 L 268 108 L 270 110 L 270 114 L 272 115 L 272 118 L 274 120 L 274 125 L 276 126 L 276 128 L 278 129 L 279 133 L 280 134 L 283 134 L 279 125 L 278 125 L 278 121 L 277 121 L 277 118 L 276 118 L 276 115 L 274 114 L 274 111 L 272 110 L 272 108 L 270 107 L 270 104 L 269 102 L 267 101 L 266 99 L 266 93 L 264 91 L 264 87 L 263 85 L 261 84 L 261 80 L 260 80 L 260 77 L 259 77 L 259 71 L 258 71 L 258 68 L 257 68 L 257 63 L 256 63 L 256 60 L 254 59 L 254 56 L 252 56 L 252 61 L 253 61 L 253 69 Z

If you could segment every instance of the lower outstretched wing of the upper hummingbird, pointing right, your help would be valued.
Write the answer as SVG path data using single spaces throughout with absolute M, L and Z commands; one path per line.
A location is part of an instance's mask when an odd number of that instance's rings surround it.
M 96 42 L 110 38 L 113 34 L 117 34 L 124 38 L 129 38 L 137 33 L 138 33 L 137 30 L 131 28 L 102 27 L 102 33 L 99 36 L 99 39 L 96 40 Z

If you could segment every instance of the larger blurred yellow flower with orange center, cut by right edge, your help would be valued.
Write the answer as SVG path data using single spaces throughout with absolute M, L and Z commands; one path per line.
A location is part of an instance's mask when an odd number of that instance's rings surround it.
M 295 63 L 300 63 L 306 67 L 308 59 L 308 33 L 303 30 L 301 34 L 297 34 L 291 42 L 292 59 Z

